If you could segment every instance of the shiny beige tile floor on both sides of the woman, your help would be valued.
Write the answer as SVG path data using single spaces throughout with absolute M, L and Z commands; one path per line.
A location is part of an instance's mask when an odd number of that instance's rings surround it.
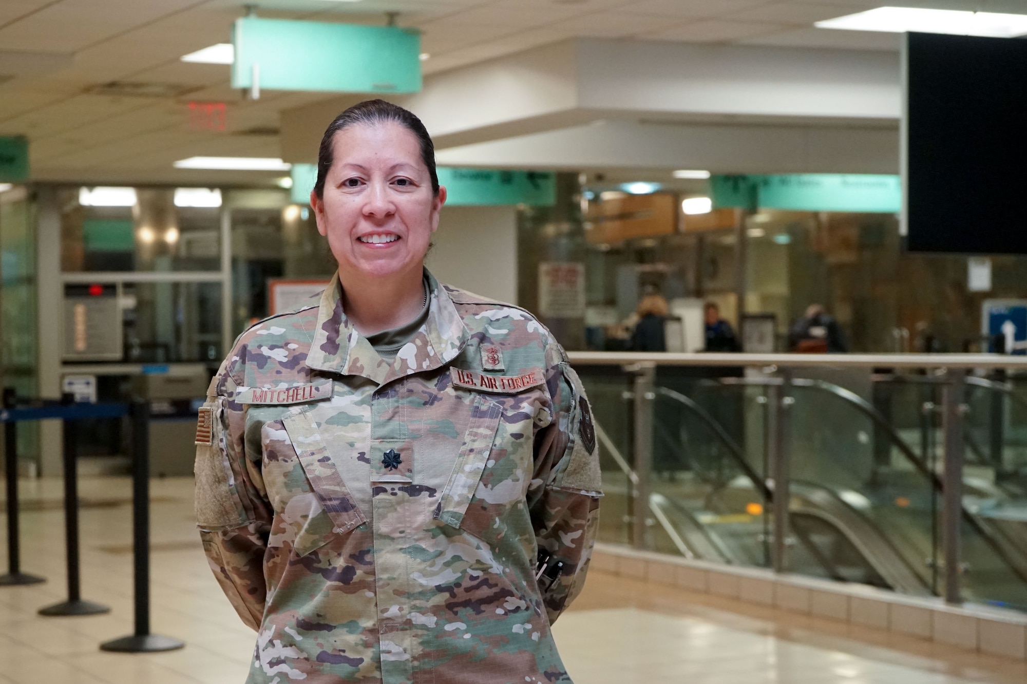
M 153 629 L 187 645 L 145 655 L 98 650 L 132 629 L 128 481 L 81 483 L 83 598 L 113 609 L 90 617 L 36 615 L 65 598 L 61 482 L 23 492 L 23 566 L 49 581 L 0 587 L 0 683 L 241 684 L 254 635 L 207 569 L 190 481 L 154 481 L 151 508 Z M 600 572 L 554 631 L 577 684 L 1027 682 L 1024 662 Z

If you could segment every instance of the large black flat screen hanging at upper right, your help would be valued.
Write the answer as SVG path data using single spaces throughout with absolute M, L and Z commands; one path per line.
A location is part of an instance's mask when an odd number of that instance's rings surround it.
M 910 252 L 1027 254 L 1027 40 L 907 35 Z

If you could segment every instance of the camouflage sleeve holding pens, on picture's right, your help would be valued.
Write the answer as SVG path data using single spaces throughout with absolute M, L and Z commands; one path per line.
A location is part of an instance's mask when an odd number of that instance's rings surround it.
M 529 505 L 539 552 L 548 554 L 539 585 L 551 623 L 584 585 L 603 493 L 592 409 L 581 381 L 564 360 L 550 368 L 547 384 L 554 414 L 536 434 L 534 473 L 544 486 Z

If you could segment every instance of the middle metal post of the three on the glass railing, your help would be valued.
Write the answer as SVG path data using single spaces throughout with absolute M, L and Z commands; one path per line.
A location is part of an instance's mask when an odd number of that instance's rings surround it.
M 791 499 L 791 455 L 789 453 L 790 416 L 789 408 L 795 402 L 792 397 L 792 374 L 781 371 L 779 385 L 768 387 L 769 436 L 767 445 L 770 455 L 770 473 L 773 478 L 773 543 L 771 559 L 774 572 L 788 572 L 788 544 L 791 532 L 788 505 Z

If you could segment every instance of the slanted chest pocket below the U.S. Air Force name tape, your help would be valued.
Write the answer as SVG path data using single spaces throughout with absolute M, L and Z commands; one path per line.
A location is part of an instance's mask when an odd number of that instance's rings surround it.
M 531 479 L 532 414 L 476 395 L 460 455 L 434 517 L 478 537 L 494 537 Z

